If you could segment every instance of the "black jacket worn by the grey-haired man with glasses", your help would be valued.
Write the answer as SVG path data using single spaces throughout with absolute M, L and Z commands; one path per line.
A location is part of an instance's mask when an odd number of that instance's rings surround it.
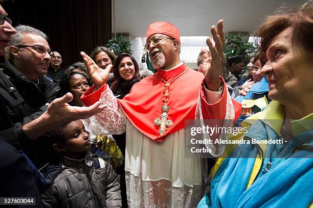
M 46 103 L 60 95 L 58 85 L 44 76 L 38 80 L 37 86 L 9 61 L 0 71 L 0 137 L 31 158 L 36 151 L 22 126 L 38 118 L 47 110 Z

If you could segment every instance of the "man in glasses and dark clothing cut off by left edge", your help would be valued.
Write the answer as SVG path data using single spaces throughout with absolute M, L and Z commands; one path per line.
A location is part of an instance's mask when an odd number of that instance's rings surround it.
M 5 47 L 8 46 L 11 35 L 16 33 L 11 22 L 6 11 L 0 5 L 0 56 L 6 54 Z M 6 83 L 6 76 L 2 71 L 0 71 L 0 78 L 0 158 L 2 159 L 0 163 L 0 184 L 2 186 L 0 197 L 35 197 L 37 203 L 34 207 L 42 207 L 37 184 L 26 158 L 9 144 L 14 143 L 11 140 L 12 135 L 18 133 L 4 131 L 12 127 L 9 118 L 13 112 L 6 108 L 7 99 L 4 94 L 6 94 L 5 89 L 10 90 L 10 86 L 6 85 L 8 83 Z

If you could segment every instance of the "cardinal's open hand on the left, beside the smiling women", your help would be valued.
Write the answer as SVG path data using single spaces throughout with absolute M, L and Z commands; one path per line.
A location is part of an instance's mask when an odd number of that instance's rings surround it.
M 112 64 L 107 65 L 105 69 L 101 69 L 92 58 L 86 55 L 83 51 L 80 52 L 84 63 L 87 67 L 88 73 L 90 74 L 91 80 L 93 81 L 96 89 L 99 89 L 108 80 L 109 72 L 113 67 Z

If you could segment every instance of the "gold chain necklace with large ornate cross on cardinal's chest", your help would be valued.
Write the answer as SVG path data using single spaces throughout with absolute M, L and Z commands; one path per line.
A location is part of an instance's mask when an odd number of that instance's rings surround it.
M 173 122 L 171 120 L 166 120 L 168 118 L 167 112 L 169 111 L 169 106 L 167 105 L 167 101 L 168 101 L 168 97 L 169 97 L 169 88 L 170 85 L 178 79 L 178 77 L 180 77 L 181 75 L 183 75 L 186 71 L 188 70 L 188 68 L 186 68 L 182 73 L 178 74 L 173 80 L 171 80 L 170 82 L 165 82 L 165 80 L 163 80 L 158 73 L 156 73 L 155 75 L 158 76 L 158 78 L 165 83 L 165 93 L 164 93 L 164 105 L 161 107 L 162 110 L 162 114 L 161 114 L 161 119 L 160 118 L 156 118 L 154 119 L 154 124 L 157 126 L 160 126 L 159 128 L 159 135 L 163 136 L 165 134 L 165 128 L 166 127 L 170 127 L 173 125 Z

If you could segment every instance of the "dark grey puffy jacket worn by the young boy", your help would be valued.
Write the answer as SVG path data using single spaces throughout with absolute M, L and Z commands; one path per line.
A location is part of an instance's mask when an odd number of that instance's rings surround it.
M 122 207 L 118 176 L 109 157 L 92 146 L 81 160 L 66 157 L 44 166 L 40 172 L 48 184 L 42 190 L 44 207 Z

